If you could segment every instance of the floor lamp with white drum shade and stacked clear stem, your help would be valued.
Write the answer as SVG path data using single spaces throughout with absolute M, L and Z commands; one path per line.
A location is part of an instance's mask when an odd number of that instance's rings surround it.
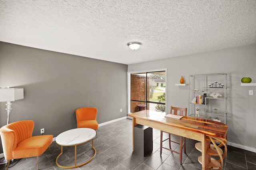
M 23 99 L 23 88 L 0 88 L 0 102 L 7 102 L 6 105 L 6 111 L 7 111 L 7 125 L 9 124 L 9 117 L 10 112 L 12 110 L 12 103 L 11 101 L 16 101 Z M 7 160 L 5 158 L 0 158 L 0 165 L 1 164 L 7 164 Z

